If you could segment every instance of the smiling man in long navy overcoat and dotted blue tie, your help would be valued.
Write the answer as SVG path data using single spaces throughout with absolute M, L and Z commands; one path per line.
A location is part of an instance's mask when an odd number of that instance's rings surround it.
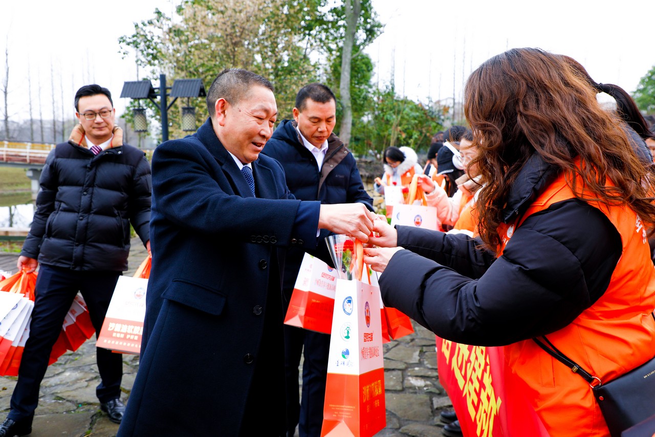
M 225 70 L 206 123 L 155 150 L 144 341 L 119 436 L 285 434 L 286 248 L 316 247 L 320 228 L 367 241 L 375 215 L 293 198 L 280 163 L 259 154 L 272 90 Z

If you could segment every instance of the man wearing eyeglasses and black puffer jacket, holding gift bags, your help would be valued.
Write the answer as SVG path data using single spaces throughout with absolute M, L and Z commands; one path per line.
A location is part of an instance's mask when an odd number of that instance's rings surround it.
M 0 437 L 31 432 L 39 386 L 71 303 L 81 292 L 96 329 L 121 272 L 127 270 L 130 223 L 150 251 L 150 165 L 141 150 L 123 144 L 109 90 L 85 85 L 75 94 L 79 125 L 50 152 L 41 173 L 28 238 L 18 269 L 39 266 L 34 309 L 18 381 Z M 100 408 L 121 423 L 122 358 L 97 348 Z

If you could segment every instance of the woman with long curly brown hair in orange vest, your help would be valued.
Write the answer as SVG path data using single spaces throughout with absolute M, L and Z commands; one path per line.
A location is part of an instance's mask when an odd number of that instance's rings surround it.
M 589 384 L 533 339 L 605 382 L 655 355 L 652 175 L 596 93 L 539 49 L 484 62 L 464 93 L 479 238 L 377 220 L 384 248 L 366 249 L 385 306 L 444 339 L 504 346 L 523 387 L 505 401 L 527 400 L 553 436 L 608 428 Z

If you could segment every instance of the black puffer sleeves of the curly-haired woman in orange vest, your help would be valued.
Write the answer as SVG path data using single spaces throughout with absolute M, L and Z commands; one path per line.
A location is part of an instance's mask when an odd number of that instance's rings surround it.
M 399 227 L 398 245 L 410 250 L 380 277 L 384 304 L 440 337 L 481 346 L 571 323 L 603 295 L 622 251 L 607 217 L 577 199 L 529 216 L 493 262 L 475 240 L 442 233 Z

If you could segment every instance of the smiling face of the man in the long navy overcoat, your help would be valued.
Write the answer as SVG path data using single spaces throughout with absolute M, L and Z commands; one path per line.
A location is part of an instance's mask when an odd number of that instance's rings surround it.
M 278 115 L 272 91 L 253 85 L 236 104 L 219 98 L 215 110 L 214 131 L 223 146 L 244 164 L 255 161 L 271 138 Z

